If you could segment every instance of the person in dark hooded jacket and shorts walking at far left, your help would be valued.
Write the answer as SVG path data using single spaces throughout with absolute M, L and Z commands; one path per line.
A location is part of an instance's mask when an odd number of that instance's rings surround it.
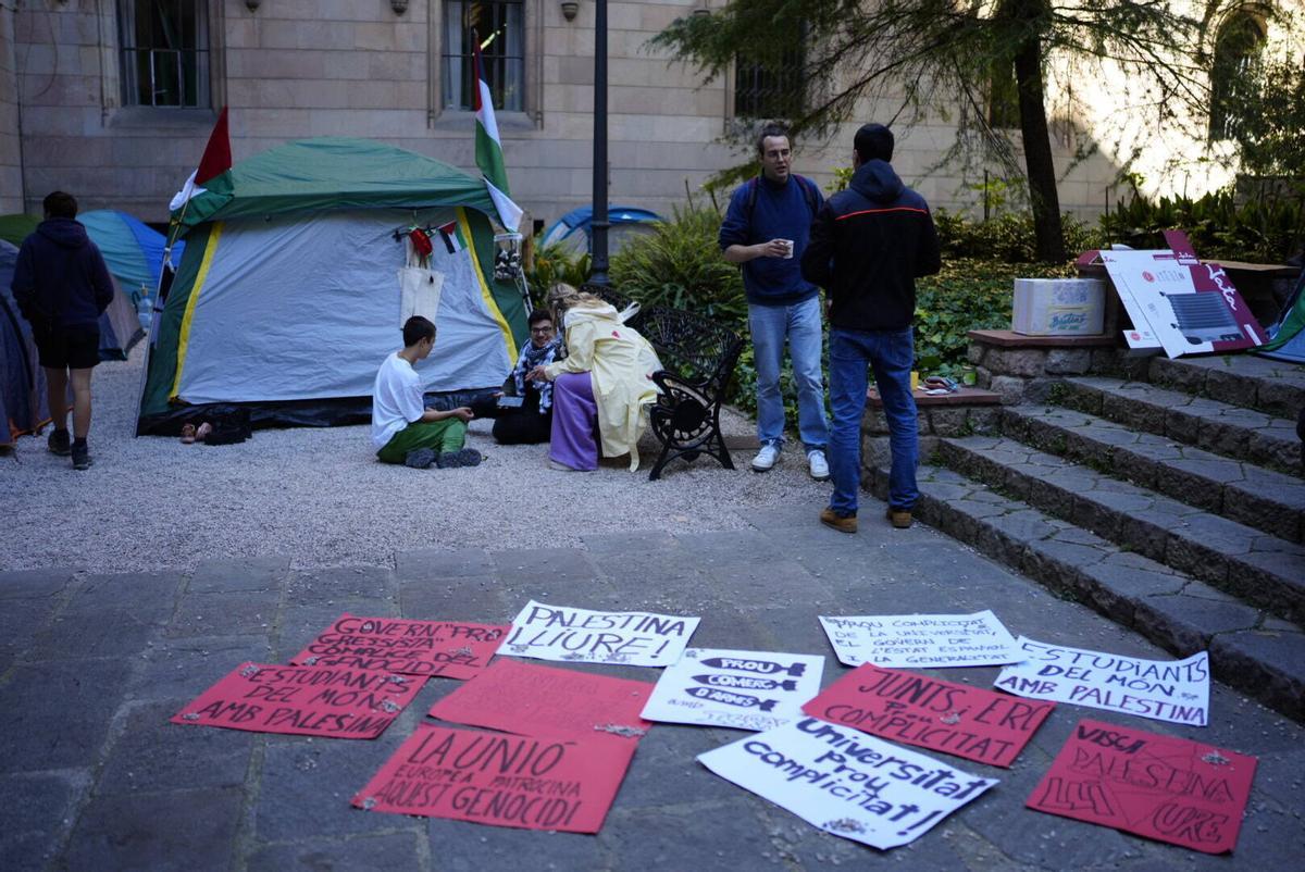
M 114 299 L 114 281 L 95 243 L 76 221 L 77 201 L 55 191 L 46 219 L 22 241 L 14 265 L 13 298 L 31 324 L 46 371 L 46 396 L 55 432 L 47 446 L 90 466 L 90 376 L 99 363 L 99 316 Z M 73 388 L 73 439 L 68 439 L 68 385 Z

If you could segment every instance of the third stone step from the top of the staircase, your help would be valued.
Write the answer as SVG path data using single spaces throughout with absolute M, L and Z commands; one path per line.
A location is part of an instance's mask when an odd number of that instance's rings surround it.
M 1288 542 L 1305 542 L 1305 480 L 1212 454 L 1168 436 L 1058 406 L 1013 406 L 1002 432 L 1026 445 L 1231 518 Z

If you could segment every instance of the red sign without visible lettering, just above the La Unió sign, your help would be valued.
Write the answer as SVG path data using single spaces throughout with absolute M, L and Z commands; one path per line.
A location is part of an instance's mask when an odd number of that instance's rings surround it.
M 646 681 L 500 659 L 431 706 L 429 714 L 523 735 L 578 739 L 609 732 L 638 739 L 652 726 L 639 717 L 652 687 Z

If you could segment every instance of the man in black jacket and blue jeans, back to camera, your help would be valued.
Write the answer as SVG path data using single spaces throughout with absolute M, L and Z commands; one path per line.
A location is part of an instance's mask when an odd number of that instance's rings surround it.
M 861 415 L 867 367 L 883 401 L 893 469 L 889 521 L 911 526 L 920 458 L 911 366 L 915 360 L 915 279 L 942 268 L 938 232 L 924 197 L 889 164 L 893 133 L 882 124 L 856 132 L 852 183 L 816 215 L 803 275 L 829 292 L 829 396 L 834 407 L 829 459 L 834 493 L 821 523 L 856 533 L 861 480 Z

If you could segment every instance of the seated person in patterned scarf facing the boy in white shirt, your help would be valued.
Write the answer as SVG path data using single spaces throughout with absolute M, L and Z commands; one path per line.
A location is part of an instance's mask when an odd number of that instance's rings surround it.
M 527 373 L 566 356 L 562 339 L 553 328 L 548 309 L 530 313 L 530 342 L 521 350 L 517 366 L 508 373 L 504 389 L 471 403 L 476 418 L 493 418 L 493 439 L 500 445 L 534 445 L 547 443 L 553 426 L 553 385 L 531 381 Z M 518 405 L 504 406 L 500 399 L 515 397 Z

